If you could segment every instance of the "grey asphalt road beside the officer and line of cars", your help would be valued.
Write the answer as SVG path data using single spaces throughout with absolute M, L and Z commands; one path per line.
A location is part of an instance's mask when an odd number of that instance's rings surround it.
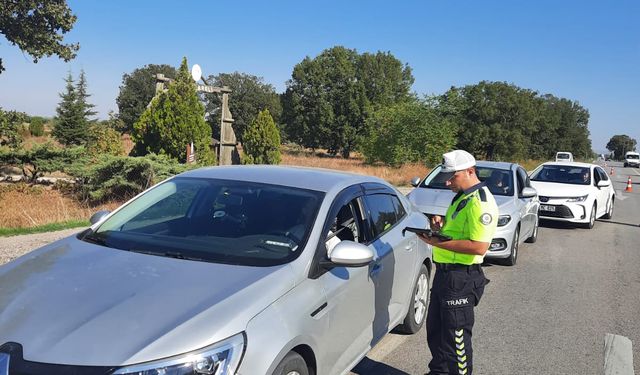
M 491 283 L 476 308 L 474 373 L 602 374 L 607 333 L 632 341 L 640 371 L 640 170 L 611 164 L 611 220 L 592 230 L 543 222 L 516 266 L 484 267 Z M 424 330 L 392 333 L 351 374 L 424 374 L 430 358 Z

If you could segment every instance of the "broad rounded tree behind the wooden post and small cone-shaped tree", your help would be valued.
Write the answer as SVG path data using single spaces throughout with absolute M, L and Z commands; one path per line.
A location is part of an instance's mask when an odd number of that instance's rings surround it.
M 217 76 L 210 76 L 209 82 L 215 86 L 228 86 L 231 89 L 229 110 L 233 115 L 233 130 L 239 142 L 244 141 L 245 130 L 261 110 L 269 110 L 271 116 L 278 122 L 282 113 L 280 97 L 273 85 L 264 83 L 262 77 L 240 72 L 220 73 Z M 219 94 L 205 94 L 205 98 L 213 136 L 219 139 L 222 98 Z

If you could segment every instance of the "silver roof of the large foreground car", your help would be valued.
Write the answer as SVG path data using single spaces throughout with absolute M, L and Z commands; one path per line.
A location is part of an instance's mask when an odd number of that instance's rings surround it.
M 276 166 L 276 165 L 229 165 L 198 168 L 178 175 L 179 177 L 215 178 L 249 181 L 301 189 L 328 192 L 333 188 L 363 182 L 377 182 L 390 186 L 386 181 L 373 176 L 339 172 L 331 169 Z

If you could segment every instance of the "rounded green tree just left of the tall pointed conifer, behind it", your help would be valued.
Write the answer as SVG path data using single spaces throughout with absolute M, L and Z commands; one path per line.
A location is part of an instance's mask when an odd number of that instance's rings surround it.
M 123 124 L 122 128 L 117 129 L 120 132 L 133 131 L 133 124 L 138 121 L 156 94 L 156 74 L 164 74 L 165 77 L 174 79 L 176 68 L 164 64 L 149 64 L 122 76 L 120 93 L 116 98 L 118 117 Z

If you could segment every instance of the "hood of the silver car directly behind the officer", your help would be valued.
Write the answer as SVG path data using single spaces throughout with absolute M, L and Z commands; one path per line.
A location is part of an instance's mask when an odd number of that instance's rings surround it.
M 449 189 L 415 188 L 409 192 L 407 197 L 420 211 L 444 216 L 454 195 Z M 498 212 L 501 214 L 510 213 L 515 208 L 512 196 L 494 195 L 493 197 L 498 205 Z

